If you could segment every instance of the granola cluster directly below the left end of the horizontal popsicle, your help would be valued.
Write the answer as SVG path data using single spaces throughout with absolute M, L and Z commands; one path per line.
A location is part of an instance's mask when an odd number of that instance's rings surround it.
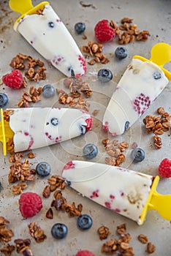
M 29 155 L 28 155 L 29 156 Z M 34 155 L 31 154 L 31 157 Z M 28 159 L 23 159 L 23 153 L 12 154 L 9 157 L 9 162 L 12 165 L 9 166 L 9 176 L 8 181 L 9 184 L 15 183 L 17 181 L 18 184 L 12 187 L 12 194 L 19 195 L 23 192 L 23 189 L 27 187 L 27 181 L 34 181 L 36 170 L 30 168 L 30 162 Z

